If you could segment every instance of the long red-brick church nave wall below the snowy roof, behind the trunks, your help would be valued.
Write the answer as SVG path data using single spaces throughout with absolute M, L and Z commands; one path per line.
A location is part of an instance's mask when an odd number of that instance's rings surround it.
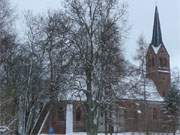
M 147 102 L 142 100 L 120 100 L 117 105 L 111 107 L 111 121 L 107 122 L 107 130 L 117 132 L 142 132 L 145 130 L 164 132 L 172 128 L 167 123 L 167 116 L 162 112 L 162 102 Z M 80 110 L 80 116 L 77 115 Z M 61 113 L 64 112 L 64 113 Z M 146 113 L 145 113 L 146 112 Z M 73 103 L 73 132 L 85 132 L 86 110 L 80 102 Z M 110 118 L 110 117 L 108 117 Z M 107 119 L 106 119 L 107 120 Z M 58 103 L 51 111 L 42 133 L 48 133 L 53 127 L 56 134 L 65 134 L 66 131 L 66 103 Z M 100 115 L 99 132 L 105 132 L 105 115 Z

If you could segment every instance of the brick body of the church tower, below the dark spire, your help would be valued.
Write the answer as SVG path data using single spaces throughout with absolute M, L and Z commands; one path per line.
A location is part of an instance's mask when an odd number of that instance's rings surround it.
M 165 97 L 170 89 L 171 73 L 169 55 L 164 46 L 161 46 L 157 54 L 151 46 L 149 47 L 146 56 L 146 71 L 147 77 L 154 81 L 160 95 Z

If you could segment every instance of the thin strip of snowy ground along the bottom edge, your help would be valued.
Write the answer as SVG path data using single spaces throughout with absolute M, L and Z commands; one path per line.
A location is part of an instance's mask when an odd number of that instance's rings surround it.
M 47 134 L 41 134 L 47 135 Z M 66 134 L 71 135 L 71 134 Z M 72 135 L 87 135 L 84 132 L 73 133 Z M 103 133 L 99 133 L 98 135 L 104 135 Z M 110 134 L 109 134 L 110 135 Z M 145 135 L 144 133 L 132 133 L 132 132 L 123 132 L 123 133 L 113 133 L 113 135 Z M 173 135 L 172 133 L 150 133 L 149 135 Z M 180 133 L 176 133 L 176 135 L 180 135 Z

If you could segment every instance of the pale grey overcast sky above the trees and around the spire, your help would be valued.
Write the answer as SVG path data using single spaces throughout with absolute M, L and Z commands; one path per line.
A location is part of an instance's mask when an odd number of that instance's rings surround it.
M 180 69 L 180 0 L 127 0 L 129 3 L 129 25 L 131 30 L 124 45 L 125 57 L 131 61 L 136 51 L 136 41 L 143 34 L 149 43 L 152 38 L 154 8 L 158 5 L 164 44 L 171 57 L 171 67 Z M 48 9 L 62 7 L 63 0 L 11 0 L 18 10 L 17 29 L 22 32 L 23 12 L 32 10 L 35 14 Z

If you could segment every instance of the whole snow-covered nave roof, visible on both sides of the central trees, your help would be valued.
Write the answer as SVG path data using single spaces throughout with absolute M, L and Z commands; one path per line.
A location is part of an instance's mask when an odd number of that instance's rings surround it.
M 79 76 L 74 82 L 72 89 L 66 91 L 62 96 L 59 95 L 60 100 L 73 100 L 73 101 L 85 101 L 86 100 L 86 78 Z M 144 87 L 145 83 L 145 87 Z M 96 90 L 95 88 L 93 88 Z M 160 96 L 154 82 L 150 79 L 142 79 L 140 75 L 126 76 L 116 86 L 117 97 L 120 99 L 137 99 L 148 101 L 164 101 Z M 145 89 L 145 92 L 144 92 Z

